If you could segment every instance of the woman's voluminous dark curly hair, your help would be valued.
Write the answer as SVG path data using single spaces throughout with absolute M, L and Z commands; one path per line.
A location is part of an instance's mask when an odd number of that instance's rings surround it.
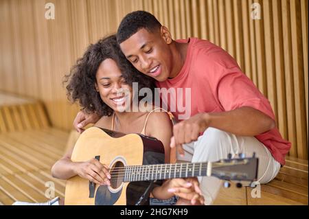
M 101 99 L 100 93 L 95 89 L 96 73 L 106 58 L 111 58 L 117 63 L 122 76 L 132 87 L 133 82 L 138 82 L 138 91 L 148 87 L 154 93 L 155 81 L 144 76 L 131 65 L 117 44 L 116 36 L 111 35 L 102 38 L 98 43 L 91 44 L 85 51 L 82 58 L 79 58 L 63 80 L 67 84 L 67 97 L 74 103 L 79 102 L 87 113 L 96 112 L 100 116 L 111 116 L 113 109 L 107 106 Z M 139 100 L 142 97 L 139 97 Z

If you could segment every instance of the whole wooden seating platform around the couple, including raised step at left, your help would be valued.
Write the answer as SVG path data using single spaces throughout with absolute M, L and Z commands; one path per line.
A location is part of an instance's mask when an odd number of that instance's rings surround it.
M 48 182 L 63 198 L 65 181 L 50 169 L 78 136 L 52 128 L 40 102 L 0 93 L 0 205 L 45 202 Z M 261 186 L 260 198 L 251 196 L 251 187 L 231 184 L 220 189 L 214 205 L 308 205 L 308 161 L 286 157 L 275 179 Z

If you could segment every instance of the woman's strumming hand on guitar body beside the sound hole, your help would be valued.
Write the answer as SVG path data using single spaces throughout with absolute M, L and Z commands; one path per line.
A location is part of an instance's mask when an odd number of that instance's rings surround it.
M 109 179 L 109 169 L 105 164 L 100 163 L 97 159 L 77 163 L 75 168 L 76 174 L 82 178 L 87 178 L 89 181 L 100 185 L 111 185 Z

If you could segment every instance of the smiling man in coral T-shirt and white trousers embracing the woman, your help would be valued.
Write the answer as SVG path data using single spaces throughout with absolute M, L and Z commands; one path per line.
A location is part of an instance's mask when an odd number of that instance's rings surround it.
M 235 157 L 240 152 L 248 156 L 255 152 L 260 159 L 258 182 L 268 183 L 277 175 L 290 143 L 275 127 L 266 97 L 226 51 L 198 38 L 174 41 L 168 28 L 144 11 L 124 17 L 117 42 L 136 69 L 157 80 L 157 87 L 190 88 L 191 98 L 172 95 L 167 101 L 162 97 L 169 109 L 176 106 L 172 113 L 178 119 L 178 102 L 190 105 L 190 118 L 173 128 L 171 147 L 177 148 L 178 160 L 217 161 L 229 153 Z M 80 113 L 74 126 L 80 130 L 95 119 L 95 115 Z M 210 205 L 221 182 L 214 177 L 199 181 L 205 204 Z

